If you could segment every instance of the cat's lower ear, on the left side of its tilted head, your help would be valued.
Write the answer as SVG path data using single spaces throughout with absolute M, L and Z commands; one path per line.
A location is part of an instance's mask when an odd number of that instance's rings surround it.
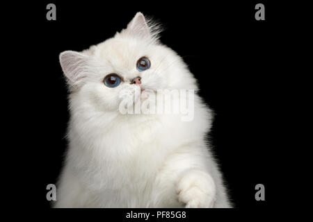
M 59 58 L 62 70 L 71 83 L 76 83 L 85 76 L 88 56 L 77 51 L 63 51 Z

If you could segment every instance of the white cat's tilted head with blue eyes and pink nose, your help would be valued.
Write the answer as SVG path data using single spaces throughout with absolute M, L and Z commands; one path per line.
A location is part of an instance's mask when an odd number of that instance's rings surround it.
M 82 52 L 61 53 L 61 67 L 74 97 L 108 111 L 118 110 L 125 90 L 195 89 L 183 60 L 159 42 L 158 34 L 158 26 L 138 12 L 114 37 Z

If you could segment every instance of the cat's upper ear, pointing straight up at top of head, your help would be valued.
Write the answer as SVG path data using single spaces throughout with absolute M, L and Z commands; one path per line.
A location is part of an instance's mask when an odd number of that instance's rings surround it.
M 145 16 L 141 12 L 137 12 L 135 17 L 127 25 L 127 33 L 139 37 L 151 37 L 150 27 L 147 25 Z

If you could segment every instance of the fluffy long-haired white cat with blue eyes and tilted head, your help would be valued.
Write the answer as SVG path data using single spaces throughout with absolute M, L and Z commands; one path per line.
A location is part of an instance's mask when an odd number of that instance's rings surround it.
M 124 89 L 198 89 L 158 33 L 138 12 L 113 38 L 61 53 L 69 149 L 54 207 L 232 207 L 205 139 L 211 111 L 197 94 L 192 121 L 119 110 Z

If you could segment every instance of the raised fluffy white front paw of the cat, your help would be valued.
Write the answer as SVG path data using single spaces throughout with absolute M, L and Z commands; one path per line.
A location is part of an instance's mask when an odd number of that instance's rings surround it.
M 188 170 L 177 183 L 178 200 L 187 208 L 213 207 L 216 199 L 214 180 L 208 173 Z

